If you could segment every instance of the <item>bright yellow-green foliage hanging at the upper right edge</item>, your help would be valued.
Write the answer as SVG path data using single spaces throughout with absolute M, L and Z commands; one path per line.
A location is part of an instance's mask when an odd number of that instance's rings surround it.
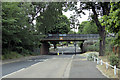
M 109 16 L 104 15 L 102 25 L 106 25 L 106 30 L 110 33 L 115 33 L 117 38 L 115 44 L 119 46 L 119 58 L 120 58 L 120 1 L 111 2 L 111 9 Z

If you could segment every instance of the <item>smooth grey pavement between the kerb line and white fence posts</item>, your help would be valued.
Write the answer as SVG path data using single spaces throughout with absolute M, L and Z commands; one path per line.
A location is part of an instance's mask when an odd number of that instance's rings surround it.
M 69 78 L 106 78 L 96 68 L 96 63 L 76 55 L 73 58 Z

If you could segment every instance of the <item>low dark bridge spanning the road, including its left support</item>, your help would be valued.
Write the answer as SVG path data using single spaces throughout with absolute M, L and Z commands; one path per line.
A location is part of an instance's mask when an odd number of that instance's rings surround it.
M 41 38 L 41 54 L 49 53 L 49 44 L 50 41 L 85 41 L 85 40 L 98 40 L 99 34 L 48 34 L 45 38 Z M 82 43 L 83 45 L 83 43 Z M 83 49 L 83 46 L 81 46 Z M 82 50 L 83 51 L 83 50 Z

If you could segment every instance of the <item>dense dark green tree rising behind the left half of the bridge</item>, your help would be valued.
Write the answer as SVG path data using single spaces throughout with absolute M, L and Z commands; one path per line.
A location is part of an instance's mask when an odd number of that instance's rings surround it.
M 49 2 L 37 17 L 37 28 L 43 34 L 56 33 L 59 28 L 67 27 L 66 17 L 62 15 L 61 2 Z M 65 22 L 64 22 L 65 21 Z M 59 31 L 60 32 L 60 31 Z

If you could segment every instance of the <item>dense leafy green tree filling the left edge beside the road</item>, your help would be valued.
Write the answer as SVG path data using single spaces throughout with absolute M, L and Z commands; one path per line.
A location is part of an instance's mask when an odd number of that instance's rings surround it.
M 34 36 L 35 28 L 29 22 L 32 10 L 31 3 L 2 3 L 3 54 L 6 54 L 6 50 L 19 53 L 22 50 L 32 51 L 39 43 L 39 39 Z

